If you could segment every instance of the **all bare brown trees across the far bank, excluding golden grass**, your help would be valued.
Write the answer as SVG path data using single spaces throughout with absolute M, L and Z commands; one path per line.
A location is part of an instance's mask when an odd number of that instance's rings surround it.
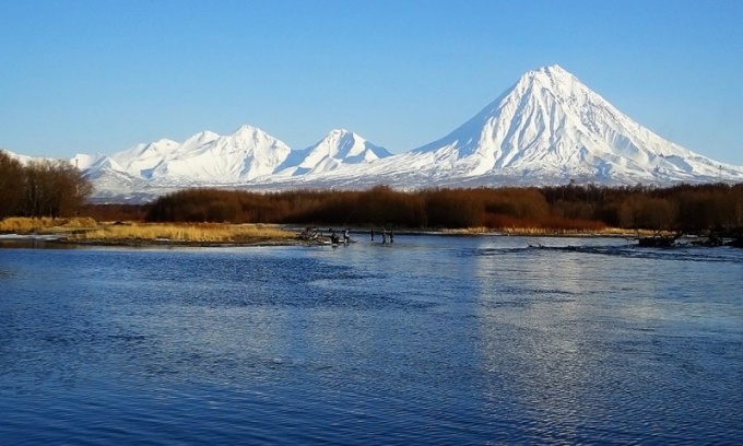
M 186 189 L 152 203 L 90 204 L 91 183 L 70 163 L 23 165 L 0 151 L 0 219 L 280 223 L 408 228 L 743 231 L 743 184 L 500 187 L 400 191 Z

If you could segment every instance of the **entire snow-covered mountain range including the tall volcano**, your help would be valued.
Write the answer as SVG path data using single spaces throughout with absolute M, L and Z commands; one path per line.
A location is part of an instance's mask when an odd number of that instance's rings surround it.
M 291 150 L 262 130 L 204 131 L 73 160 L 99 199 L 151 198 L 193 186 L 291 188 L 474 187 L 742 181 L 743 167 L 718 163 L 618 111 L 558 66 L 529 71 L 444 138 L 392 155 L 356 133 L 332 130 Z

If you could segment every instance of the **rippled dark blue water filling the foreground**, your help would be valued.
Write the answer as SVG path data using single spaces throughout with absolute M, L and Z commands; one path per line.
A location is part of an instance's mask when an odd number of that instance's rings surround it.
M 4 248 L 0 443 L 741 444 L 741 283 L 616 239 Z

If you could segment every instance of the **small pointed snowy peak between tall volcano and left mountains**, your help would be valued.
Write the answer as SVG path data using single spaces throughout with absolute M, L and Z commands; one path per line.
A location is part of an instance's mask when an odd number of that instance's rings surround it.
M 343 164 L 361 164 L 392 154 L 358 134 L 344 129 L 331 130 L 321 141 L 307 149 L 292 152 L 276 168 L 280 176 L 298 176 L 331 172 Z

